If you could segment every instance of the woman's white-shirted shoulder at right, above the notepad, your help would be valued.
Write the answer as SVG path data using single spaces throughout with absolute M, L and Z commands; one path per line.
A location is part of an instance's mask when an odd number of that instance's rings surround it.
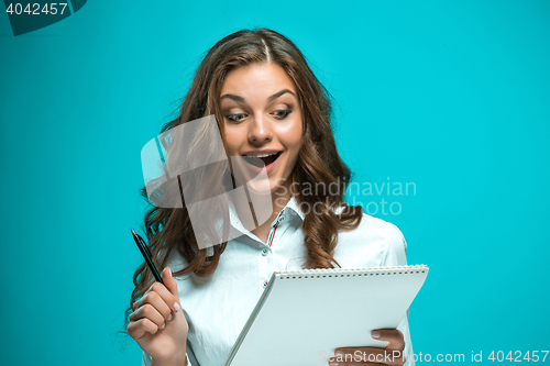
M 339 233 L 338 242 L 342 249 L 359 253 L 369 249 L 371 255 L 377 257 L 375 266 L 407 265 L 407 242 L 402 231 L 395 224 L 364 212 L 359 226 Z M 373 263 L 370 262 L 370 265 Z

